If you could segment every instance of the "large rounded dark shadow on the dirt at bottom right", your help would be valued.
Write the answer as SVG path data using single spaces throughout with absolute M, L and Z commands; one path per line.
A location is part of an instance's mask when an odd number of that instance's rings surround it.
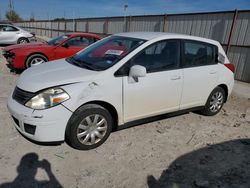
M 177 158 L 149 188 L 249 188 L 250 139 L 209 145 Z

